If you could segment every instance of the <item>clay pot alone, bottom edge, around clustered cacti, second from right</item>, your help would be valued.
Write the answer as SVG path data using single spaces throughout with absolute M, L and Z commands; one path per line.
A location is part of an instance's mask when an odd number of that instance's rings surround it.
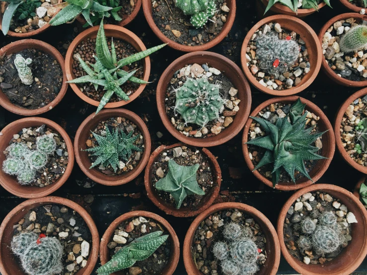
M 209 207 L 207 210 L 197 216 L 191 223 L 190 228 L 186 233 L 183 247 L 183 258 L 185 269 L 188 275 L 202 275 L 202 273 L 198 270 L 191 253 L 196 229 L 211 214 L 221 210 L 233 208 L 250 215 L 260 225 L 260 228 L 265 235 L 267 258 L 265 264 L 260 268 L 256 275 L 275 275 L 277 273 L 281 252 L 279 249 L 277 232 L 275 231 L 275 228 L 270 220 L 263 213 L 252 206 L 240 203 L 222 203 Z

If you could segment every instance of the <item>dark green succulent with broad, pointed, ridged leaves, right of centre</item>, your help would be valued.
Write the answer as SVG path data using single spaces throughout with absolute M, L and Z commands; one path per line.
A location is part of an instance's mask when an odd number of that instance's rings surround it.
M 303 161 L 325 158 L 316 154 L 319 148 L 311 144 L 326 131 L 311 135 L 314 126 L 305 129 L 307 112 L 300 116 L 304 106 L 305 104 L 301 104 L 299 100 L 291 106 L 289 115 L 291 122 L 288 120 L 288 115 L 285 118 L 278 117 L 275 125 L 265 119 L 251 117 L 260 124 L 267 134 L 264 137 L 254 138 L 246 142 L 246 144 L 266 149 L 264 156 L 254 170 L 269 163 L 274 163 L 272 171 L 274 187 L 279 182 L 282 168 L 291 176 L 293 182 L 295 182 L 295 170 L 312 181 Z

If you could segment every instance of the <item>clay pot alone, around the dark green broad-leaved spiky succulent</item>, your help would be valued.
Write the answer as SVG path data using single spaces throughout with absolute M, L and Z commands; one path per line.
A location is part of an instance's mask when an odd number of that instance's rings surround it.
M 331 124 L 328 120 L 328 118 L 325 116 L 325 114 L 321 111 L 319 107 L 317 107 L 314 103 L 311 101 L 304 99 L 302 97 L 298 96 L 284 96 L 284 97 L 275 97 L 272 99 L 269 99 L 263 103 L 261 103 L 256 109 L 251 113 L 251 117 L 256 117 L 259 112 L 269 106 L 270 104 L 279 103 L 282 102 L 284 104 L 293 104 L 297 99 L 300 99 L 302 103 L 306 103 L 305 110 L 310 111 L 311 113 L 314 113 L 317 117 L 320 117 L 320 119 L 317 121 L 317 125 L 319 127 L 320 132 L 327 131 L 324 135 L 322 135 L 322 148 L 320 155 L 326 157 L 326 159 L 319 159 L 317 160 L 316 166 L 312 169 L 312 171 L 309 173 L 310 177 L 312 178 L 313 182 L 307 179 L 306 177 L 302 177 L 299 180 L 296 180 L 295 184 L 294 182 L 279 182 L 275 189 L 278 190 L 297 190 L 300 188 L 304 188 L 308 185 L 311 185 L 312 183 L 316 182 L 321 176 L 325 173 L 327 168 L 330 165 L 330 162 L 334 156 L 335 151 L 335 138 L 333 134 L 333 128 L 331 127 Z M 249 157 L 249 150 L 247 144 L 248 140 L 248 132 L 250 130 L 250 125 L 253 123 L 253 120 L 249 118 L 246 122 L 243 136 L 242 136 L 242 151 L 243 156 L 245 158 L 246 164 L 248 168 L 252 171 L 254 170 L 255 166 L 253 165 L 250 157 Z M 273 188 L 273 183 L 268 178 L 264 177 L 260 174 L 258 170 L 253 171 L 253 174 L 256 178 L 258 178 L 261 182 L 265 183 L 267 186 Z

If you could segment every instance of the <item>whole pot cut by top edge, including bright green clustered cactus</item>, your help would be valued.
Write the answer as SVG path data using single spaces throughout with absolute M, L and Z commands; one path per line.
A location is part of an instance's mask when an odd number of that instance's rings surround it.
M 152 31 L 169 47 L 183 52 L 206 51 L 229 33 L 236 1 L 146 0 L 143 9 Z

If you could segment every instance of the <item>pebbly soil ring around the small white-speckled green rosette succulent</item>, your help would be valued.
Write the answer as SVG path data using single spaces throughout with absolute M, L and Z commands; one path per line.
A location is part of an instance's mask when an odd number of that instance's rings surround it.
M 121 117 L 110 118 L 106 121 L 100 122 L 98 126 L 92 130 L 92 132 L 99 136 L 104 136 L 106 127 L 108 127 L 111 133 L 113 129 L 119 129 L 120 131 L 124 131 L 126 135 L 128 135 L 131 131 L 133 131 L 133 137 L 137 135 L 139 136 L 139 138 L 135 140 L 135 145 L 138 146 L 142 151 L 138 152 L 138 151 L 132 150 L 132 155 L 129 156 L 128 161 L 125 161 L 124 159 L 120 158 L 120 161 L 122 161 L 122 163 L 120 162 L 121 166 L 120 168 L 116 170 L 116 172 L 114 172 L 113 168 L 110 165 L 108 165 L 107 167 L 103 167 L 101 165 L 99 167 L 96 166 L 94 168 L 102 172 L 103 174 L 111 175 L 111 176 L 121 175 L 121 174 L 124 174 L 124 173 L 127 173 L 133 170 L 138 165 L 141 159 L 141 156 L 144 153 L 144 138 L 143 138 L 142 133 L 140 132 L 140 130 L 137 128 L 137 126 L 132 121 L 126 118 L 121 118 Z M 88 147 L 98 146 L 98 142 L 93 137 L 92 134 L 89 135 L 89 138 L 86 141 L 86 144 Z M 97 159 L 97 157 L 91 156 L 91 154 L 88 154 L 88 155 L 92 162 L 94 162 Z M 104 168 L 104 169 L 101 169 L 101 168 Z

